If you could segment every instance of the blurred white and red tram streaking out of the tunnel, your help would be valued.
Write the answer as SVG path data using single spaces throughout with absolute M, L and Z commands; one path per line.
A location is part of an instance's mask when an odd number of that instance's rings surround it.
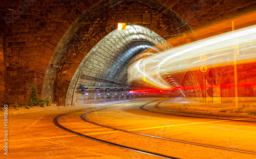
M 205 56 L 202 62 L 199 57 Z M 148 87 L 172 92 L 173 96 L 187 96 L 187 92 L 202 89 L 198 67 L 205 63 L 209 66 L 208 78 L 216 76 L 212 70 L 226 66 L 238 65 L 238 68 L 250 67 L 256 73 L 256 25 L 220 34 L 171 48 L 148 56 L 133 63 L 127 70 L 130 83 L 144 83 Z M 241 66 L 241 67 L 240 67 Z M 246 68 L 248 69 L 248 68 Z M 238 69 L 239 70 L 239 69 Z M 234 71 L 230 71 L 234 72 Z M 218 72 L 217 72 L 218 73 Z M 200 74 L 200 73 L 199 73 Z M 214 75 L 212 75 L 214 74 Z M 230 74 L 229 74 L 230 75 Z M 255 74 L 256 75 L 256 74 Z M 189 76 L 192 84 L 184 82 Z M 195 79 L 196 78 L 196 79 Z M 208 80 L 210 81 L 210 80 Z M 256 88 L 256 79 L 239 81 L 239 84 L 250 84 Z M 230 87 L 232 81 L 229 81 Z M 215 80 L 214 84 L 218 83 Z M 233 82 L 232 82 L 233 83 Z M 225 84 L 222 82 L 222 84 Z M 223 87 L 227 85 L 221 85 Z M 198 93 L 194 93 L 198 96 Z

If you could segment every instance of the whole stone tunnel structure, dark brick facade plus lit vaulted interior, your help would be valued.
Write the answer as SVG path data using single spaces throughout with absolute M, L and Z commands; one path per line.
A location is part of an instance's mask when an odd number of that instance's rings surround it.
M 145 58 L 145 52 L 155 54 L 231 31 L 232 17 L 253 11 L 254 2 L 231 4 L 150 0 L 3 2 L 1 96 L 13 102 L 18 98 L 27 101 L 34 83 L 39 97 L 48 97 L 56 105 L 132 98 L 130 90 L 146 87 L 143 82 L 128 83 L 127 68 L 132 63 Z M 223 10 L 224 6 L 230 10 Z M 223 17 L 230 21 L 218 26 L 222 30 L 199 31 Z M 125 23 L 126 30 L 118 30 L 118 23 Z M 242 26 L 236 23 L 236 29 Z M 223 83 L 221 74 L 231 68 L 225 69 L 211 69 L 208 81 Z M 249 74 L 253 78 L 254 72 Z M 197 95 L 189 96 L 197 100 L 202 97 L 197 73 L 190 70 L 165 75 L 165 81 L 176 79 L 180 86 L 197 86 Z M 224 78 L 232 81 L 231 77 Z M 254 88 L 244 89 L 247 93 L 240 96 L 254 95 Z M 232 92 L 219 91 L 225 97 L 233 96 Z M 232 100 L 223 98 L 223 102 Z

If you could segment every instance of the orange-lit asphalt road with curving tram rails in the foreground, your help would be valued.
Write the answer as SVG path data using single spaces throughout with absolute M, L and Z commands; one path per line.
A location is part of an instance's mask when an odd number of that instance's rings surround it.
M 102 125 L 136 133 L 256 152 L 255 123 L 182 117 L 140 109 L 141 105 L 153 101 L 145 105 L 144 108 L 169 113 L 154 108 L 160 100 L 153 98 L 112 102 L 111 106 L 87 104 L 51 111 L 11 115 L 9 120 L 13 127 L 10 126 L 10 145 L 7 158 L 160 158 L 78 137 L 56 127 L 52 122 L 53 118 L 60 114 L 93 107 L 90 110 L 61 116 L 58 121 L 62 126 L 84 135 L 177 158 L 256 158 L 255 154 L 130 134 L 94 125 L 80 118 L 84 113 L 112 107 L 92 112 L 86 115 L 86 118 Z M 248 116 L 248 118 L 251 117 Z M 232 119 L 240 118 L 238 116 Z

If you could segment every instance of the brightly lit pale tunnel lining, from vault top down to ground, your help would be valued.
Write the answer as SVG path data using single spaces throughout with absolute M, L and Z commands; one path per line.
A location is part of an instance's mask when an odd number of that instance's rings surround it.
M 84 57 L 69 84 L 66 105 L 134 97 L 127 83 L 127 67 L 140 52 L 171 48 L 162 37 L 140 25 L 127 25 L 102 38 Z M 161 48 L 161 50 L 159 50 Z

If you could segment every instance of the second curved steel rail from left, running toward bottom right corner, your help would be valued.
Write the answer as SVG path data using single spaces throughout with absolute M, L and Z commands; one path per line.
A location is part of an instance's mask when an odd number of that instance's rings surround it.
M 153 101 L 152 101 L 153 102 Z M 160 101 L 162 102 L 162 101 Z M 159 102 L 159 103 L 160 103 Z M 150 102 L 151 103 L 151 102 Z M 142 105 L 140 107 L 140 109 L 147 105 L 148 103 Z M 112 108 L 112 107 L 109 107 L 109 108 Z M 103 109 L 99 109 L 99 110 L 104 110 L 104 109 L 108 109 L 108 108 L 103 108 Z M 162 137 L 157 137 L 157 136 L 152 136 L 152 135 L 146 135 L 146 134 L 141 134 L 141 133 L 136 133 L 136 132 L 133 132 L 133 131 L 128 131 L 128 130 L 123 130 L 123 129 L 119 129 L 119 128 L 114 128 L 114 127 L 111 127 L 111 126 L 106 126 L 106 125 L 101 125 L 101 124 L 98 124 L 98 123 L 95 123 L 95 122 L 92 122 L 90 121 L 89 119 L 86 118 L 86 115 L 90 114 L 90 113 L 93 113 L 93 112 L 96 112 L 96 111 L 99 111 L 99 110 L 95 110 L 95 111 L 91 111 L 91 112 L 88 112 L 88 113 L 85 113 L 81 116 L 81 118 L 83 120 L 86 120 L 92 124 L 95 124 L 95 125 L 98 125 L 98 126 L 102 126 L 102 127 L 106 127 L 106 128 L 111 128 L 111 129 L 114 129 L 114 130 L 119 130 L 119 131 L 123 131 L 123 132 L 126 132 L 126 133 L 131 133 L 131 134 L 136 134 L 136 135 L 141 135 L 141 136 L 146 136 L 146 137 L 152 137 L 152 138 L 157 138 L 157 139 L 162 139 L 162 140 L 168 140 L 168 141 L 173 141 L 173 142 L 179 142 L 179 143 L 185 143 L 185 144 L 190 144 L 190 145 L 197 145 L 197 146 L 203 146 L 203 147 L 209 147 L 209 148 L 215 148 L 215 149 L 222 149 L 222 150 L 228 150 L 228 151 L 236 151 L 236 152 L 242 152 L 242 153 L 249 153 L 249 154 L 256 154 L 256 152 L 252 152 L 252 151 L 246 151 L 246 150 L 239 150 L 239 149 L 232 149 L 232 148 L 226 148 L 226 147 L 220 147 L 220 146 L 214 146 L 214 145 L 206 145 L 206 144 L 199 144 L 199 143 L 194 143 L 194 142 L 187 142 L 187 141 L 182 141 L 182 140 L 175 140 L 175 139 L 168 139 L 168 138 L 162 138 Z M 147 110 L 146 110 L 147 111 Z M 150 111 L 151 112 L 151 111 Z

